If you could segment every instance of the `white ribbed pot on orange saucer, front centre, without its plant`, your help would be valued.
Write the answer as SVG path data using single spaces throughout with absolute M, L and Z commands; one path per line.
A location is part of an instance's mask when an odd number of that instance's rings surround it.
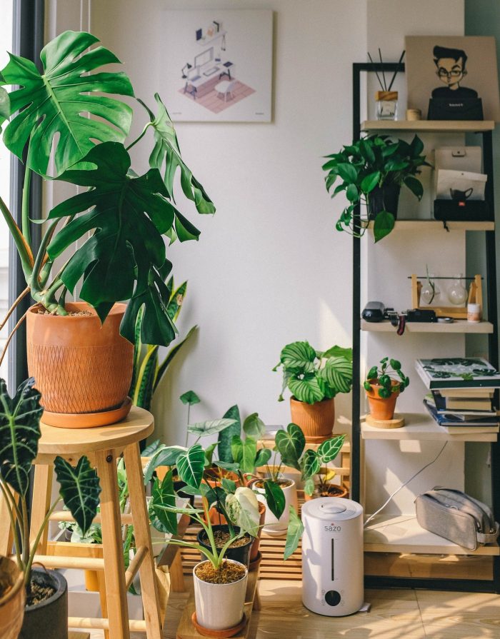
M 226 561 L 243 565 L 232 559 Z M 196 576 L 196 568 L 202 563 L 206 562 L 201 561 L 193 568 L 196 620 L 209 630 L 234 628 L 243 618 L 248 570 L 243 566 L 244 577 L 234 583 L 207 583 Z

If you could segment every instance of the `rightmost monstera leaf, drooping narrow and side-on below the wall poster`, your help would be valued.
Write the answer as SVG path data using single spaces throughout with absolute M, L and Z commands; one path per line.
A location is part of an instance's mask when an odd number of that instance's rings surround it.
M 151 156 L 149 156 L 149 166 L 158 168 L 159 171 L 164 167 L 164 182 L 171 196 L 174 192 L 174 176 L 177 168 L 180 168 L 181 187 L 186 198 L 194 201 L 199 213 L 215 213 L 214 203 L 181 158 L 174 125 L 160 96 L 155 94 L 154 99 L 158 106 L 156 117 L 146 104 L 139 100 L 148 112 L 151 119 L 150 126 L 154 129 L 155 145 Z M 175 230 L 181 242 L 199 236 L 199 231 L 178 212 L 176 213 Z

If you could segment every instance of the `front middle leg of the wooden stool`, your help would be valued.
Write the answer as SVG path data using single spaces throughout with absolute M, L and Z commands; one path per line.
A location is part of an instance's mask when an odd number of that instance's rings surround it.
M 115 451 L 96 453 L 110 639 L 130 639 Z

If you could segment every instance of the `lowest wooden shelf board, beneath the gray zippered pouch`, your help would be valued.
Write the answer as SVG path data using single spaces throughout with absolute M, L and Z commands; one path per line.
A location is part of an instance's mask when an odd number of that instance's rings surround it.
M 477 550 L 421 528 L 415 515 L 377 515 L 364 529 L 364 550 L 374 553 L 426 553 L 431 555 L 500 555 L 498 544 Z

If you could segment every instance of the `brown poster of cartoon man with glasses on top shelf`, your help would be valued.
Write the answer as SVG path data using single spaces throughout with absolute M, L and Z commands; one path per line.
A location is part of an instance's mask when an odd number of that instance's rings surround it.
M 484 119 L 500 121 L 494 37 L 406 36 L 405 47 L 410 109 L 421 109 L 426 119 L 430 99 L 451 104 L 481 99 Z

